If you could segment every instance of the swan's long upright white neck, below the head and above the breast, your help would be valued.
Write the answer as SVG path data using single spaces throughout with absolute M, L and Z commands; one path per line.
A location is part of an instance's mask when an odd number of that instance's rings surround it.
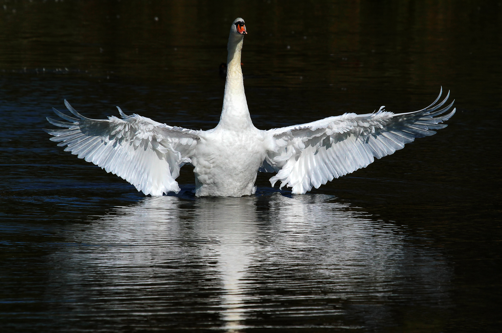
M 223 109 L 217 127 L 238 130 L 253 126 L 247 109 L 242 70 L 240 68 L 242 42 L 242 35 L 236 36 L 236 34 L 230 33 L 227 46 L 225 95 L 223 96 Z

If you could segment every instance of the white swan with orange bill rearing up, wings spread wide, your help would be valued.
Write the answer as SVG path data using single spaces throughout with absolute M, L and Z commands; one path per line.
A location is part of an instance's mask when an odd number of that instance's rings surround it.
M 288 186 L 293 194 L 305 194 L 313 187 L 365 168 L 374 158 L 394 153 L 416 137 L 435 134 L 446 127 L 441 122 L 453 102 L 441 108 L 449 97 L 414 112 L 385 111 L 368 114 L 345 113 L 306 124 L 270 130 L 253 125 L 247 108 L 240 67 L 244 20 L 235 19 L 228 38 L 227 73 L 223 107 L 218 125 L 210 130 L 170 126 L 138 114 L 121 119 L 89 119 L 68 101 L 77 118 L 53 111 L 63 122 L 47 118 L 65 129 L 46 130 L 65 151 L 92 162 L 134 185 L 145 195 L 178 193 L 180 168 L 191 164 L 195 173 L 195 195 L 241 197 L 256 192 L 257 173 L 276 173 L 272 187 Z

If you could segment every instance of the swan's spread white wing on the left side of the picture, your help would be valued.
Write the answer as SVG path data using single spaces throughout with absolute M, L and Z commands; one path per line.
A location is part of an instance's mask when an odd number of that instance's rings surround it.
M 180 188 L 175 179 L 183 164 L 191 162 L 193 148 L 199 141 L 199 131 L 172 127 L 134 114 L 118 111 L 122 119 L 89 119 L 79 114 L 65 100 L 65 105 L 78 119 L 54 109 L 68 122 L 47 120 L 67 129 L 46 129 L 52 141 L 67 147 L 65 151 L 93 162 L 106 172 L 133 184 L 145 195 L 162 196 Z

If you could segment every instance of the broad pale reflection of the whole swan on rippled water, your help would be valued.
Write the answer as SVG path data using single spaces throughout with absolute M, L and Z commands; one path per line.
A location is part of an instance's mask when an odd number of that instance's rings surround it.
M 47 258 L 46 298 L 96 331 L 384 328 L 403 302 L 451 306 L 440 253 L 326 195 L 145 198 L 62 236 L 78 246 Z

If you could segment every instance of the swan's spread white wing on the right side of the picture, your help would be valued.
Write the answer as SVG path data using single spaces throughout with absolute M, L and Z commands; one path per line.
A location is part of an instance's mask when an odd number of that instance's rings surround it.
M 440 109 L 450 95 L 448 92 L 436 104 L 441 93 L 442 89 L 434 103 L 415 112 L 394 114 L 382 106 L 376 113 L 345 113 L 271 129 L 276 147 L 267 152 L 260 171 L 277 172 L 270 179 L 272 186 L 281 181 L 281 188 L 287 185 L 294 194 L 303 194 L 333 178 L 365 168 L 374 157 L 392 154 L 416 137 L 435 134 L 431 129 L 446 127 L 439 123 L 448 120 L 455 109 L 444 115 L 453 102 Z

